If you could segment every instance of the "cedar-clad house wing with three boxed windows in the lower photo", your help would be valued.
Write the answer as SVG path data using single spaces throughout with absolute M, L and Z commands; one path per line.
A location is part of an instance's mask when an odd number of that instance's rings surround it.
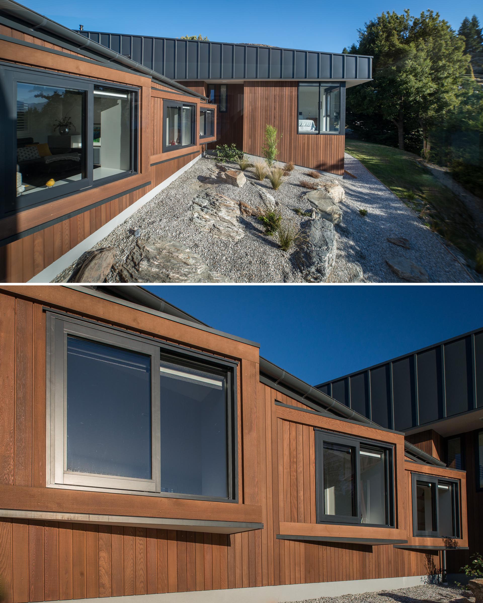
M 464 470 L 142 288 L 2 285 L 0 333 L 5 603 L 300 601 L 468 546 Z

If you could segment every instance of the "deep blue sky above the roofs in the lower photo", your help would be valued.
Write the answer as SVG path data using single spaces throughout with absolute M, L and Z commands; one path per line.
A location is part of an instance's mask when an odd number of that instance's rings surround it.
M 481 286 L 146 288 L 312 385 L 483 327 Z

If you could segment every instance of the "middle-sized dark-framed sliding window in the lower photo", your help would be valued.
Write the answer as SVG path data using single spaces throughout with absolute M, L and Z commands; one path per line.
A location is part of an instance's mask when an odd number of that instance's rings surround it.
M 317 521 L 394 525 L 393 448 L 315 431 Z

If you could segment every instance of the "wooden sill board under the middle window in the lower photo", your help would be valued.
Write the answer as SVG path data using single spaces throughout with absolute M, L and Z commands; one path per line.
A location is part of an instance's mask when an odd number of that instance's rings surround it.
M 298 540 L 315 538 L 317 540 L 368 543 L 373 544 L 407 543 L 408 534 L 403 529 L 373 528 L 371 526 L 336 525 L 329 523 L 280 522 L 279 535 L 297 537 Z

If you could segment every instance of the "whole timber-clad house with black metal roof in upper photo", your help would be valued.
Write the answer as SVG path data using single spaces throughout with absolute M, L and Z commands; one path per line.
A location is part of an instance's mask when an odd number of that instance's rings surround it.
M 0 3 L 0 282 L 48 282 L 215 142 L 341 176 L 371 57 L 75 32 Z M 54 262 L 56 262 L 54 264 Z

